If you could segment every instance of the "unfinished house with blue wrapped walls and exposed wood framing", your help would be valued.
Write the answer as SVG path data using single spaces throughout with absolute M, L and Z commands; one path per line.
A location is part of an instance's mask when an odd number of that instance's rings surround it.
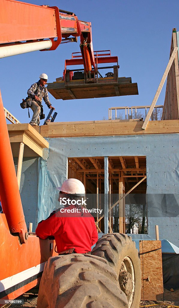
M 179 46 L 178 34 L 173 29 L 170 60 Z M 141 215 L 147 230 L 131 236 L 154 239 L 158 225 L 160 238 L 179 246 L 178 51 L 171 61 L 165 102 L 159 106 L 163 108 L 161 120 L 155 116 L 153 102 L 154 111 L 150 114 L 150 107 L 145 121 L 129 112 L 124 120 L 110 120 L 112 109 L 117 118 L 117 108 L 111 108 L 109 120 L 50 123 L 36 130 L 29 124 L 8 125 L 27 225 L 32 222 L 35 230 L 39 221 L 59 207 L 56 187 L 73 177 L 84 183 L 87 194 L 95 194 L 97 208 L 102 206 L 101 196 L 110 195 L 104 201 L 104 217 L 95 218 L 99 231 L 132 233 L 125 217 L 126 204 L 142 205 L 142 210 L 145 205 Z M 54 87 L 58 87 L 56 82 Z M 48 88 L 51 93 L 56 91 L 53 83 Z M 132 110 L 136 112 L 137 107 Z

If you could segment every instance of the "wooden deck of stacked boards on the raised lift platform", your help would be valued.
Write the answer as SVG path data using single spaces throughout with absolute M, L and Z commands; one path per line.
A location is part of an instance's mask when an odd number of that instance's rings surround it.
M 48 83 L 47 89 L 56 99 L 63 100 L 138 94 L 137 83 L 132 83 L 131 77 L 120 77 L 118 82 L 111 77 L 100 78 L 97 83 L 85 83 L 83 79 L 57 81 Z

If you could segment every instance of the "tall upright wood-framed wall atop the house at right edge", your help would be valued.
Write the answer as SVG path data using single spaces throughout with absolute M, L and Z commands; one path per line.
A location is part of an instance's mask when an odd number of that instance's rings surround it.
M 170 56 L 175 47 L 178 47 L 177 31 L 176 28 L 173 28 Z M 177 53 L 167 78 L 162 120 L 178 120 L 178 119 L 179 119 L 179 66 L 178 66 L 178 53 Z

